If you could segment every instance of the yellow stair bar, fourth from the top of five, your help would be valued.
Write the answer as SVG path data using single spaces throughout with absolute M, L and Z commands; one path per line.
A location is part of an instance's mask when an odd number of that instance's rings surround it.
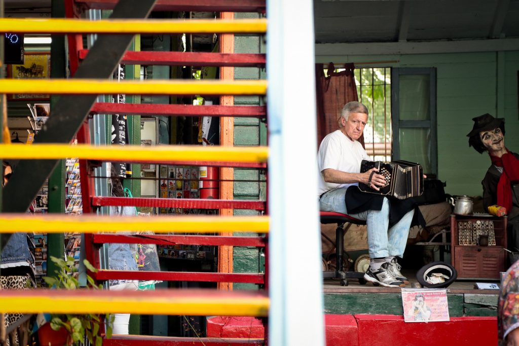
M 0 214 L 0 233 L 116 233 L 150 230 L 157 233 L 216 233 L 269 230 L 268 216 L 108 216 L 84 214 Z

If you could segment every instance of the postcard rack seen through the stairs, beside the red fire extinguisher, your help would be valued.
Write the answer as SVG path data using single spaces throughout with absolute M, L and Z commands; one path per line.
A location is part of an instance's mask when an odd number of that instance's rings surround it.
M 160 198 L 200 198 L 199 168 L 195 166 L 160 165 L 159 167 Z M 215 214 L 217 211 L 193 208 L 159 208 L 159 214 Z M 203 245 L 158 245 L 159 257 L 207 260 L 215 257 L 215 246 Z

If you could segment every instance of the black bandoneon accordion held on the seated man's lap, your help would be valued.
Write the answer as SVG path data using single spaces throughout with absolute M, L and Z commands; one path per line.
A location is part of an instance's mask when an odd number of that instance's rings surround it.
M 380 186 L 379 191 L 359 183 L 364 192 L 392 196 L 398 199 L 420 196 L 424 193 L 424 170 L 419 163 L 397 160 L 393 162 L 362 160 L 360 172 L 364 173 L 372 168 L 378 168 L 376 174 L 384 175 L 386 185 Z

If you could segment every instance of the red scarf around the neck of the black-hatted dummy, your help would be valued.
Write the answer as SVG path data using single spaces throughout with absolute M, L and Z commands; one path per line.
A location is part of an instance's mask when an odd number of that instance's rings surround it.
M 503 168 L 503 173 L 497 183 L 497 204 L 510 211 L 512 209 L 511 183 L 519 181 L 519 160 L 508 149 L 507 154 L 503 154 L 501 157 L 490 155 L 490 160 L 494 165 Z

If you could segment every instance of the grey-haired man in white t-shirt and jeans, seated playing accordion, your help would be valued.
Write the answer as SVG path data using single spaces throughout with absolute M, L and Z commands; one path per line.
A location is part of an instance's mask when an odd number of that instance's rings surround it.
M 397 200 L 359 190 L 358 183 L 377 191 L 386 183 L 376 168 L 360 173 L 361 161 L 371 160 L 358 142 L 367 118 L 366 106 L 348 102 L 339 118 L 339 130 L 321 142 L 317 157 L 320 209 L 365 220 L 371 260 L 364 279 L 386 287 L 403 287 L 409 282 L 400 272 L 397 258 L 404 254 L 415 205 L 412 199 Z

